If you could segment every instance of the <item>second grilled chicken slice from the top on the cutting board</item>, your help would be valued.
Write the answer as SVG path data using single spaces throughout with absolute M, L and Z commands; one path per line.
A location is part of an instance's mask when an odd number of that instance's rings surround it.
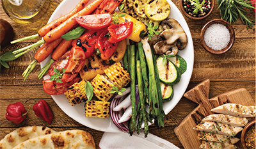
M 225 114 L 211 114 L 209 116 L 206 116 L 202 121 L 203 122 L 209 122 L 209 121 L 221 122 L 221 123 L 227 123 L 229 125 L 233 125 L 237 127 L 243 127 L 250 121 L 250 118 L 241 118 L 241 117 L 230 116 Z

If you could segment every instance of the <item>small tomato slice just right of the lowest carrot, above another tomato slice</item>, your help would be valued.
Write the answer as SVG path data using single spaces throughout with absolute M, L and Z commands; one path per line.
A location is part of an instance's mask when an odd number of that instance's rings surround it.
M 70 54 L 70 51 L 65 52 L 65 54 L 63 54 L 63 56 L 61 56 L 59 59 L 57 59 L 56 61 L 54 61 L 51 65 L 51 67 L 49 68 L 49 75 L 52 76 L 53 74 L 55 74 L 55 72 L 53 71 L 54 68 L 58 69 L 61 71 L 62 68 L 65 68 L 67 63 L 68 63 L 68 56 Z

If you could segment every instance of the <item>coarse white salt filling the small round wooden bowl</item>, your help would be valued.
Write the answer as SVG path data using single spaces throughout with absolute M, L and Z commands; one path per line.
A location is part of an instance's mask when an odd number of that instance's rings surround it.
M 204 42 L 211 49 L 220 51 L 227 47 L 230 41 L 230 33 L 223 24 L 212 24 L 207 27 L 204 33 Z

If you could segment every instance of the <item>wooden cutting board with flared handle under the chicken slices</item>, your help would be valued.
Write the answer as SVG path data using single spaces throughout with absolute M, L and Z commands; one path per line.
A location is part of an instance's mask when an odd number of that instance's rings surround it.
M 193 130 L 193 127 L 198 125 L 205 116 L 214 114 L 211 112 L 212 108 L 227 103 L 255 106 L 255 100 L 253 100 L 250 93 L 244 88 L 228 91 L 211 99 L 209 99 L 209 89 L 210 80 L 207 79 L 184 94 L 184 97 L 199 104 L 199 106 L 191 111 L 191 113 L 189 113 L 188 116 L 186 116 L 186 118 L 184 118 L 184 120 L 174 129 L 175 134 L 184 148 L 199 148 L 201 143 L 196 138 L 198 131 Z M 239 132 L 236 137 L 240 138 L 239 135 L 241 135 L 241 132 Z M 237 148 L 243 148 L 241 141 L 236 143 L 236 146 Z

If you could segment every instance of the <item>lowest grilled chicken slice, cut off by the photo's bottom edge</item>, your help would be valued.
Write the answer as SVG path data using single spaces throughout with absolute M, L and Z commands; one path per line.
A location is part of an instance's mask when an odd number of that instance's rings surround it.
M 216 143 L 216 142 L 211 142 L 211 141 L 202 141 L 202 144 L 199 146 L 199 148 L 234 149 L 234 148 L 237 148 L 237 146 L 230 145 L 228 143 Z

